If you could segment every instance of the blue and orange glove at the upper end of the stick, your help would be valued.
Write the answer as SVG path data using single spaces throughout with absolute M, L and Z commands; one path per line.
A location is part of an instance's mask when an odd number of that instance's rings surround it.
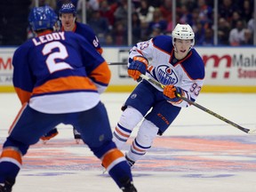
M 135 81 L 140 81 L 140 74 L 146 74 L 148 68 L 148 60 L 144 57 L 133 57 L 132 62 L 128 67 L 128 75 Z

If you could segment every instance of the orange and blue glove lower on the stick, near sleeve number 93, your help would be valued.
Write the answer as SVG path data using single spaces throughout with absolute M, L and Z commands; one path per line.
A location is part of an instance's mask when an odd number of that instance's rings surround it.
M 164 86 L 164 99 L 170 102 L 180 102 L 181 99 L 177 97 L 177 94 L 184 95 L 184 91 L 180 87 L 176 87 L 173 84 Z

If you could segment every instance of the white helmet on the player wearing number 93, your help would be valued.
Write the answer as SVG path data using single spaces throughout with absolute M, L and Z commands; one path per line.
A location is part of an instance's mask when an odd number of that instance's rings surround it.
M 188 24 L 177 24 L 172 30 L 172 44 L 174 46 L 175 39 L 191 39 L 191 48 L 195 44 L 195 34 Z

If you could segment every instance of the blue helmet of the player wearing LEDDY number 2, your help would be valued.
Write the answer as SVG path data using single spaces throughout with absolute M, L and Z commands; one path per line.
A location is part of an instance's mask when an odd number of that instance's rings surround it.
M 34 7 L 28 16 L 29 24 L 34 31 L 53 29 L 57 20 L 57 14 L 48 5 Z

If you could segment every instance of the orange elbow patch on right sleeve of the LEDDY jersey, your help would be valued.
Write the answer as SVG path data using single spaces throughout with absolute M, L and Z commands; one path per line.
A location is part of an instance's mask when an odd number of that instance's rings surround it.
M 111 78 L 111 71 L 108 68 L 108 63 L 106 61 L 102 62 L 98 68 L 95 68 L 90 74 L 92 79 L 95 79 L 96 82 L 102 84 L 109 84 Z

